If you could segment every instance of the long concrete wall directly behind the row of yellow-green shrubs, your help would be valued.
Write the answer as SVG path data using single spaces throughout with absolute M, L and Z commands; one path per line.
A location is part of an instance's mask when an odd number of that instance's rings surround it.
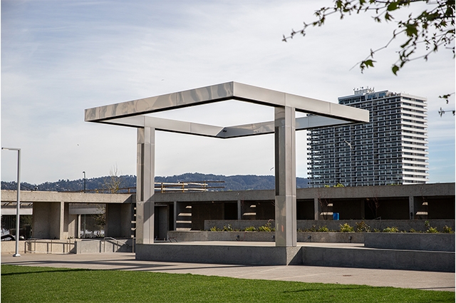
M 356 228 L 356 223 L 363 221 L 371 227 L 371 230 L 383 230 L 386 227 L 398 227 L 399 230 L 409 231 L 411 229 L 419 232 L 425 232 L 426 220 L 297 220 L 297 229 L 310 230 L 311 228 L 318 229 L 326 226 L 329 230 L 340 230 L 344 223 Z M 437 227 L 437 230 L 442 232 L 443 227 L 451 227 L 455 230 L 455 220 L 428 220 L 430 226 Z M 212 227 L 222 229 L 224 226 L 231 225 L 233 229 L 244 230 L 246 227 L 254 226 L 256 228 L 266 225 L 271 222 L 274 226 L 274 220 L 204 220 L 204 230 L 210 230 Z

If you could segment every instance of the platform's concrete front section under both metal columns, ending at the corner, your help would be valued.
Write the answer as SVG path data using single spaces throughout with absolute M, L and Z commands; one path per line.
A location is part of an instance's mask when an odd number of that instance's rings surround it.
M 136 245 L 136 260 L 235 265 L 299 265 L 302 257 L 301 247 L 155 243 Z

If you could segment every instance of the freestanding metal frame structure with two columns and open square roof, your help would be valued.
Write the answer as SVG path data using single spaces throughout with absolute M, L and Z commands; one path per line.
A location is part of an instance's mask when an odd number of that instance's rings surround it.
M 242 101 L 274 108 L 274 120 L 215 126 L 155 118 L 147 114 L 221 101 Z M 296 111 L 307 113 L 296 118 Z M 229 139 L 274 133 L 276 247 L 296 247 L 296 130 L 347 123 L 368 123 L 369 112 L 337 103 L 272 91 L 237 82 L 88 108 L 87 122 L 137 128 L 136 243 L 154 243 L 155 131 Z

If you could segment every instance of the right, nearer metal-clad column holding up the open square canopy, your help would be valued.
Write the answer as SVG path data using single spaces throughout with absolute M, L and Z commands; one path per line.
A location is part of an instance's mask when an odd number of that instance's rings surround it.
M 296 246 L 295 109 L 274 108 L 276 246 Z

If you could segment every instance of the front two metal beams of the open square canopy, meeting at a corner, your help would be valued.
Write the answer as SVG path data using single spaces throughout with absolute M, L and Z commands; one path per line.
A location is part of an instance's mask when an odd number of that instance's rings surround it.
M 245 101 L 274 107 L 286 106 L 295 108 L 299 112 L 314 113 L 348 122 L 369 121 L 368 111 L 358 108 L 237 82 L 227 82 L 189 91 L 88 108 L 86 109 L 85 117 L 88 122 L 103 122 L 115 118 L 138 116 L 227 100 Z

